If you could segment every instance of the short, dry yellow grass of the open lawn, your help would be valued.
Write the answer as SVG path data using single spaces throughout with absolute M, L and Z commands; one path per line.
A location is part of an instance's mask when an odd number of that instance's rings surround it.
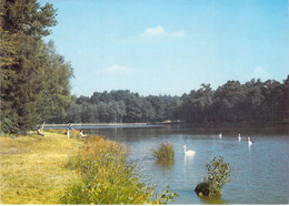
M 42 133 L 0 137 L 1 204 L 59 204 L 68 184 L 80 178 L 63 165 L 83 143 Z

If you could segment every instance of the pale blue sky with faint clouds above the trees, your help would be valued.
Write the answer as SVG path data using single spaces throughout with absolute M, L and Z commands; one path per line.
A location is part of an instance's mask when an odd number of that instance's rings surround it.
M 289 74 L 287 0 L 49 2 L 59 23 L 48 39 L 71 62 L 77 96 L 181 95 L 201 83 L 217 89 L 228 80 Z

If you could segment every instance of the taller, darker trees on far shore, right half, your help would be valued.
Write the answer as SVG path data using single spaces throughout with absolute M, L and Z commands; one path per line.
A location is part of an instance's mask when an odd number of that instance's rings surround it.
M 182 96 L 175 114 L 191 123 L 288 123 L 288 81 L 289 75 L 283 84 L 259 79 L 245 84 L 228 81 L 216 91 L 202 84 Z

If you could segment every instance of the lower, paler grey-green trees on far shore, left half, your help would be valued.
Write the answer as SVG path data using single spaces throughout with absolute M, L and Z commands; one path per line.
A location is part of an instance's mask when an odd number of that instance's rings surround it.
M 79 96 L 64 119 L 58 122 L 161 122 L 173 119 L 179 105 L 177 96 L 140 96 L 128 90 L 94 92 L 92 96 Z

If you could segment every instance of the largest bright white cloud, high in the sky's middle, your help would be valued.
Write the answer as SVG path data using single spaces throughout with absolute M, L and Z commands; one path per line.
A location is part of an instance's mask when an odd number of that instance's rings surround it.
M 161 25 L 156 28 L 147 28 L 140 35 L 141 37 L 183 37 L 186 34 L 185 31 L 166 31 Z

